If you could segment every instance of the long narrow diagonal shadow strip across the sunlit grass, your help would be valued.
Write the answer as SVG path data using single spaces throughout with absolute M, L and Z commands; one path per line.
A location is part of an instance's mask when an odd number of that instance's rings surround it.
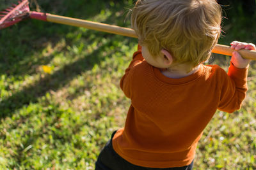
M 111 36 L 111 38 L 114 41 L 117 41 L 118 36 Z M 23 90 L 3 99 L 0 103 L 0 117 L 5 118 L 12 116 L 10 114 L 13 114 L 15 110 L 18 110 L 29 103 L 36 103 L 38 99 L 44 96 L 49 90 L 56 91 L 67 85 L 67 83 L 75 76 L 92 69 L 95 64 L 99 64 L 100 60 L 103 59 L 101 53 L 104 49 L 108 48 L 108 46 L 109 43 L 98 46 L 97 50 L 94 50 L 89 55 L 63 66 L 52 74 L 46 74 L 44 78 L 40 78 L 40 80 L 33 83 L 33 85 L 25 87 Z M 115 50 L 109 53 L 109 56 L 114 52 Z

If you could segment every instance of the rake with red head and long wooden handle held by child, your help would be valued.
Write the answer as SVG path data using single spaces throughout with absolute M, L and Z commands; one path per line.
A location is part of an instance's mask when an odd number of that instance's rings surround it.
M 102 24 L 99 22 L 92 22 L 88 20 L 81 20 L 77 18 L 63 17 L 60 15 L 52 15 L 50 13 L 40 13 L 36 11 L 30 11 L 28 0 L 19 1 L 19 4 L 13 4 L 12 7 L 7 8 L 0 13 L 0 29 L 9 27 L 16 24 L 26 18 L 34 18 L 36 20 L 44 20 L 47 22 L 55 22 L 58 24 L 72 25 L 76 27 L 84 27 L 86 29 L 93 29 L 96 31 L 109 32 L 112 34 L 118 34 L 122 36 L 128 36 L 132 38 L 138 38 L 133 29 L 126 27 L 118 27 L 116 25 Z M 223 55 L 232 55 L 234 50 L 227 45 L 217 44 L 212 49 L 213 53 L 220 53 Z M 239 53 L 244 59 L 256 60 L 255 50 L 239 50 Z

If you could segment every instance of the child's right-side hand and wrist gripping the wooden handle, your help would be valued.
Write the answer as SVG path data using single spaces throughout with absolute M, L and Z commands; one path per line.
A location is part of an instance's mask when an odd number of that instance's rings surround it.
M 231 45 L 231 48 L 236 51 L 241 50 L 241 49 L 245 49 L 245 50 L 255 50 L 256 49 L 255 45 L 253 45 L 252 43 L 248 44 L 248 43 L 242 43 L 239 41 L 233 41 L 232 43 L 230 43 L 230 45 Z M 251 61 L 250 59 L 243 59 L 238 52 L 232 53 L 231 62 L 237 68 L 247 67 L 250 61 Z

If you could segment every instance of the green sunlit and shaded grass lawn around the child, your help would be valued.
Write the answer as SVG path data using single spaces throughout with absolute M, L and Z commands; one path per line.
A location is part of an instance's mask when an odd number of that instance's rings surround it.
M 48 13 L 129 27 L 131 0 L 38 3 Z M 241 4 L 227 13 L 219 43 L 256 43 L 256 15 L 246 17 Z M 136 39 L 38 20 L 1 30 L 0 37 L 0 169 L 94 169 L 111 133 L 124 126 L 129 100 L 118 83 Z M 211 63 L 227 70 L 229 60 L 213 55 Z M 255 74 L 253 61 L 243 108 L 216 112 L 195 169 L 256 169 Z

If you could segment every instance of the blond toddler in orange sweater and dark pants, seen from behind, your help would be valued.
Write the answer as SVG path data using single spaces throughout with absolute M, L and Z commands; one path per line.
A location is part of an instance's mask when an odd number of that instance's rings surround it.
M 250 60 L 235 51 L 228 73 L 202 64 L 221 32 L 215 0 L 138 0 L 131 23 L 140 45 L 120 81 L 131 106 L 95 169 L 192 169 L 215 111 L 241 107 Z M 255 50 L 238 41 L 231 45 Z

